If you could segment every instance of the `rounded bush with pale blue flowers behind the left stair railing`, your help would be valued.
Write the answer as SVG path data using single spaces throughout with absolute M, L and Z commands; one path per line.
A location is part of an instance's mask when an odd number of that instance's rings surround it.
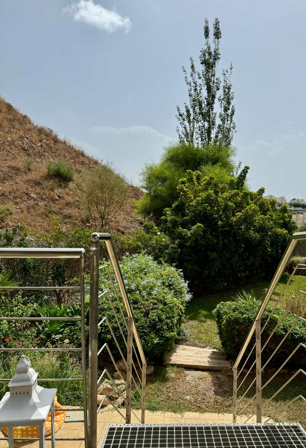
M 106 264 L 112 271 L 110 263 Z M 144 253 L 126 254 L 120 266 L 145 355 L 152 360 L 162 360 L 181 336 L 185 305 L 191 297 L 188 285 L 180 270 L 167 263 L 156 263 L 150 255 Z M 106 269 L 100 269 L 99 275 L 100 292 L 108 290 L 126 336 L 126 327 L 108 272 Z M 115 287 L 118 288 L 116 282 Z M 119 289 L 118 296 L 120 297 Z M 125 353 L 125 343 L 107 294 L 99 299 L 99 320 L 104 316 L 108 317 L 118 343 Z M 99 344 L 105 342 L 112 345 L 112 349 L 116 349 L 106 323 L 99 327 Z

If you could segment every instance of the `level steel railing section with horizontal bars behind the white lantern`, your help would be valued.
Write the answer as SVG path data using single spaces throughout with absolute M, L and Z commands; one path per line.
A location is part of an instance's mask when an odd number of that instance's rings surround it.
M 0 349 L 0 352 L 26 352 L 26 351 L 34 351 L 34 352 L 80 352 L 82 355 L 82 378 L 39 378 L 38 381 L 80 381 L 82 382 L 83 388 L 83 407 L 82 408 L 61 408 L 61 410 L 66 411 L 83 411 L 84 413 L 84 437 L 78 438 L 60 438 L 56 437 L 56 441 L 58 440 L 84 440 L 85 448 L 90 448 L 88 441 L 88 422 L 87 422 L 87 388 L 86 388 L 86 347 L 85 347 L 85 306 L 84 306 L 84 249 L 62 249 L 62 248 L 0 248 L 0 258 L 77 258 L 80 261 L 80 286 L 9 286 L 9 287 L 1 287 L 1 289 L 8 290 L 58 290 L 58 289 L 66 289 L 66 290 L 78 290 L 80 293 L 81 300 L 81 316 L 80 317 L 13 317 L 6 316 L 0 317 L 0 320 L 24 320 L 24 321 L 43 321 L 43 320 L 69 320 L 69 321 L 81 321 L 81 348 L 60 348 L 60 349 L 36 349 L 36 348 L 7 348 Z M 2 382 L 9 382 L 11 379 L 9 378 L 0 378 Z M 34 440 L 33 438 L 22 438 L 25 440 Z M 0 438 L 0 440 L 8 440 L 7 437 Z M 37 440 L 37 439 L 36 439 Z M 47 438 L 46 441 L 52 440 L 51 438 Z

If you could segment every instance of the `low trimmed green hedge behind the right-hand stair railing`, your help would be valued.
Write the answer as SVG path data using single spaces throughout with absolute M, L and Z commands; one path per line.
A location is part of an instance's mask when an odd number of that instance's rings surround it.
M 214 310 L 221 344 L 229 359 L 235 360 L 237 358 L 242 344 L 245 341 L 250 327 L 257 315 L 259 306 L 259 301 L 220 302 Z M 272 307 L 269 306 L 264 311 L 262 325 L 266 322 L 271 311 Z M 267 327 L 262 334 L 262 345 L 271 334 L 273 328 L 276 326 L 276 323 L 283 313 L 284 310 L 281 308 L 276 308 L 274 310 L 274 313 L 272 314 L 272 317 L 267 323 Z M 271 356 L 296 318 L 296 314 L 292 314 L 290 312 L 284 317 L 280 323 L 280 326 L 276 329 L 276 332 L 267 344 L 267 347 L 263 350 L 263 364 Z M 246 350 L 246 356 L 249 354 L 249 350 L 253 347 L 254 342 L 255 337 L 253 336 L 250 345 Z M 280 366 L 300 342 L 306 344 L 306 324 L 302 321 L 297 322 L 295 327 L 293 327 L 290 334 L 273 356 L 271 362 L 269 363 L 269 367 Z M 253 362 L 254 356 L 251 356 L 250 358 Z M 302 347 L 297 350 L 297 353 L 295 353 L 295 355 L 289 360 L 288 366 L 304 369 L 306 368 L 305 350 Z

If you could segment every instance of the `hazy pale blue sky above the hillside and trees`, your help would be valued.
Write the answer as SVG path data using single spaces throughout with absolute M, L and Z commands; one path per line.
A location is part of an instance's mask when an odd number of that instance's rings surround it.
M 0 95 L 138 184 L 176 141 L 182 65 L 220 20 L 249 186 L 305 198 L 305 0 L 0 0 Z

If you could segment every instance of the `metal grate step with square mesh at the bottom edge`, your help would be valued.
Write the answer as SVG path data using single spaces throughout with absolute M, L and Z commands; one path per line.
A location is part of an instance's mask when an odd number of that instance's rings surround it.
M 100 448 L 306 447 L 299 423 L 109 425 Z

